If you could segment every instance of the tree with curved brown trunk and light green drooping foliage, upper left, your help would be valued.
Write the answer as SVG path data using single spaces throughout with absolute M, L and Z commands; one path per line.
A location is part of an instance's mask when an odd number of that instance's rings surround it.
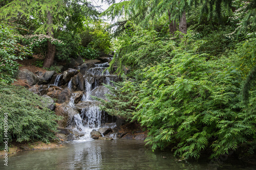
M 10 21 L 13 22 L 16 18 L 36 20 L 38 27 L 33 30 L 34 33 L 46 34 L 48 39 L 48 49 L 43 66 L 50 67 L 56 52 L 56 46 L 53 42 L 54 33 L 65 29 L 67 20 L 71 20 L 71 14 L 74 14 L 72 10 L 78 9 L 77 4 L 79 4 L 80 8 L 76 12 L 81 12 L 84 17 L 97 14 L 94 7 L 84 0 L 13 0 L 0 8 L 0 17 L 9 24 Z M 86 14 L 86 9 L 91 12 Z M 81 20 L 79 21 L 81 22 Z

